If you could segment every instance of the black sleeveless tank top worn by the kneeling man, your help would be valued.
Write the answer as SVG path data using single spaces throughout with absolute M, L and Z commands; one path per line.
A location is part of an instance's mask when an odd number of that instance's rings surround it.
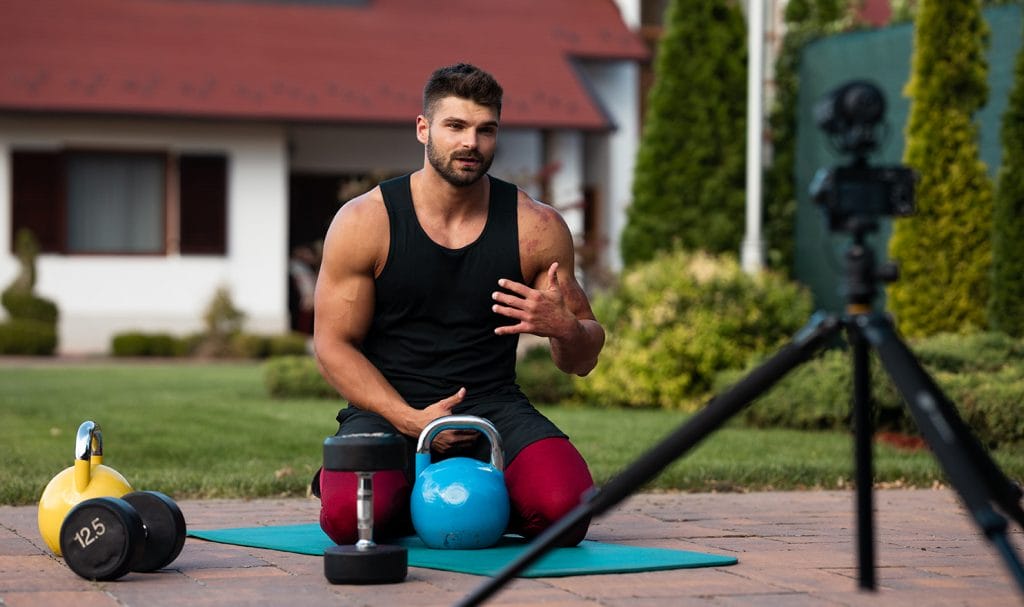
M 467 399 L 515 383 L 518 336 L 495 328 L 515 320 L 495 313 L 498 279 L 522 283 L 515 185 L 490 179 L 487 219 L 461 249 L 434 243 L 413 208 L 410 177 L 380 184 L 390 223 L 387 261 L 362 353 L 411 405 L 422 408 L 465 386 Z

